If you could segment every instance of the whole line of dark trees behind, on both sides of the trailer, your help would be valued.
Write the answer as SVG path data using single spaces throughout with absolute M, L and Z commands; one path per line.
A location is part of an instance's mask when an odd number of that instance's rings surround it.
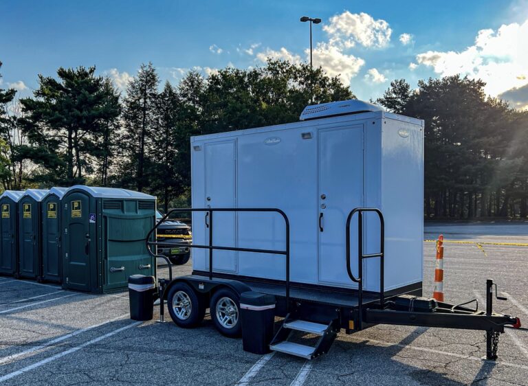
M 484 87 L 461 76 L 417 89 L 395 80 L 373 101 L 425 120 L 426 218 L 528 215 L 528 113 Z M 154 194 L 165 210 L 189 205 L 192 135 L 296 122 L 307 104 L 351 98 L 338 77 L 280 60 L 189 71 L 175 86 L 148 63 L 124 92 L 95 67 L 60 68 L 39 75 L 30 98 L 0 89 L 1 188 L 85 183 Z

